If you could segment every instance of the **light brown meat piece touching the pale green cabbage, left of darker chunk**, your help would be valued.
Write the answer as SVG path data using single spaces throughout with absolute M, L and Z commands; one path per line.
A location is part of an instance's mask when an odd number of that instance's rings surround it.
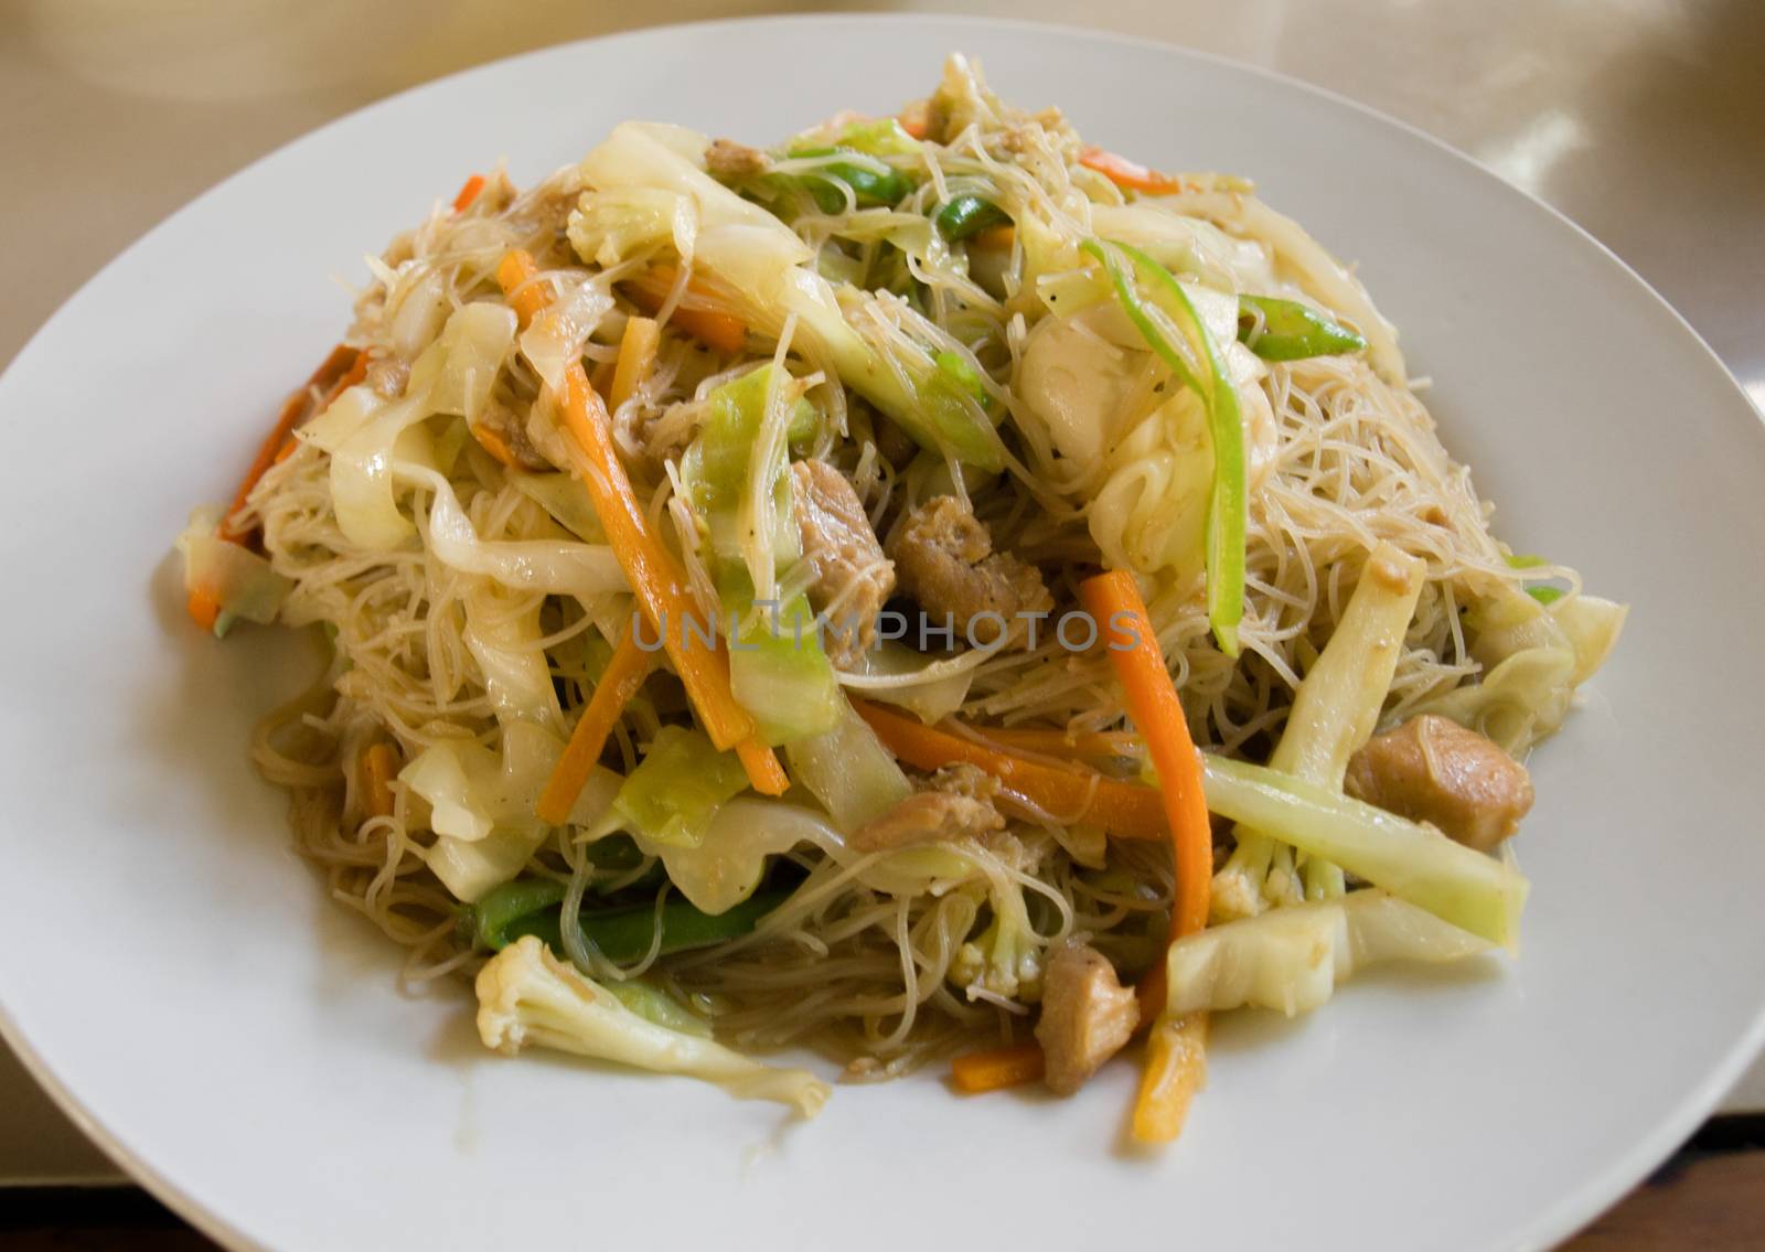
M 824 461 L 794 461 L 791 489 L 803 558 L 815 570 L 808 602 L 831 607 L 826 645 L 837 666 L 849 666 L 877 634 L 877 609 L 895 590 L 895 565 L 870 530 L 863 502 L 845 475 Z

